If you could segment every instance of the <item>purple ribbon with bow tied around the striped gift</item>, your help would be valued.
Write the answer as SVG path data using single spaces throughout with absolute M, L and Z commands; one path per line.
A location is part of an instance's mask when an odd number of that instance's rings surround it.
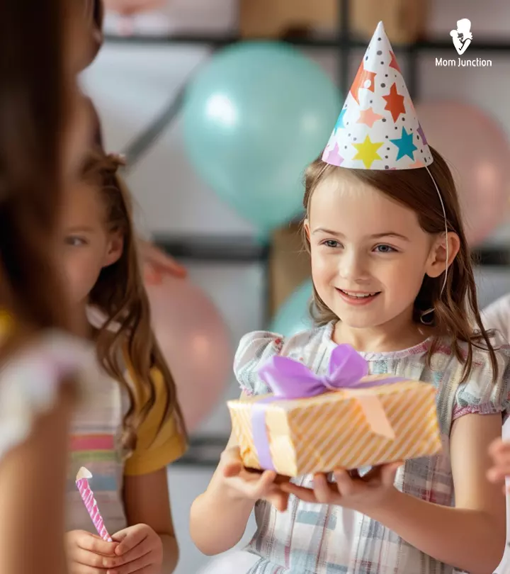
M 399 383 L 401 377 L 362 381 L 368 375 L 368 363 L 350 345 L 338 345 L 331 353 L 328 371 L 317 375 L 304 364 L 286 356 L 272 356 L 259 368 L 259 376 L 271 388 L 273 395 L 255 403 L 251 414 L 254 446 L 261 468 L 276 470 L 269 449 L 266 428 L 266 405 L 276 400 L 310 398 L 329 390 L 370 388 Z

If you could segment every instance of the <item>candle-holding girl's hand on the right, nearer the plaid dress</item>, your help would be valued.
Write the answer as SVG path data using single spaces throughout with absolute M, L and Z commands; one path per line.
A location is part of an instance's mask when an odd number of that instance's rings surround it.
M 115 554 L 122 565 L 108 574 L 160 574 L 163 563 L 163 543 L 159 534 L 147 524 L 118 531 L 112 538 L 119 542 Z

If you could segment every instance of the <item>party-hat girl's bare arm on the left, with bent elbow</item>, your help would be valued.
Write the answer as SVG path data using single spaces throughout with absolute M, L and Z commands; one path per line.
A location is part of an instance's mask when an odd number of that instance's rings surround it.
M 236 439 L 231 435 L 225 453 L 235 446 Z M 222 457 L 207 490 L 191 506 L 191 539 L 208 556 L 225 552 L 242 539 L 256 502 L 236 496 L 232 490 L 225 488 L 223 471 L 225 463 L 230 462 Z

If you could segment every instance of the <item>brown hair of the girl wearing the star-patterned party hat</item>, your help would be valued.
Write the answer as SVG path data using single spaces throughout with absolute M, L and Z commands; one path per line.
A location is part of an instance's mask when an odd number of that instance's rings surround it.
M 455 232 L 460 239 L 460 249 L 452 264 L 448 267 L 446 286 L 441 290 L 444 274 L 437 278 L 425 276 L 421 289 L 414 302 L 414 320 L 419 322 L 426 313 L 437 328 L 439 334 L 453 337 L 453 351 L 459 361 L 463 362 L 465 381 L 472 369 L 473 348 L 489 351 L 490 361 L 497 377 L 497 360 L 490 341 L 492 332 L 487 332 L 482 325 L 478 309 L 475 276 L 472 269 L 470 249 L 467 245 L 463 221 L 460 215 L 460 204 L 453 181 L 453 176 L 443 157 L 431 147 L 433 162 L 429 170 L 441 192 L 446 211 L 448 232 Z M 346 168 L 335 167 L 316 159 L 305 173 L 305 197 L 303 205 L 306 213 L 310 210 L 310 200 L 317 186 L 331 176 L 341 178 Z M 421 229 L 431 234 L 445 232 L 445 220 L 441 201 L 431 175 L 426 168 L 399 169 L 392 171 L 349 169 L 348 174 L 361 183 L 382 191 L 390 198 L 411 208 L 418 216 Z M 305 237 L 307 249 L 310 243 Z M 432 313 L 427 313 L 433 309 Z M 312 313 L 318 325 L 325 325 L 338 317 L 325 305 L 314 288 Z M 473 328 L 473 322 L 475 329 Z M 459 342 L 467 343 L 467 354 Z M 429 349 L 429 361 L 437 350 L 439 340 L 436 337 Z

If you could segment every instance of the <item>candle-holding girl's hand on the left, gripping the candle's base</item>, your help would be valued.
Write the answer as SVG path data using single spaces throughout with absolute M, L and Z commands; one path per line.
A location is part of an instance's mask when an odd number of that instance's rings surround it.
M 121 563 L 115 557 L 117 542 L 105 542 L 100 536 L 84 530 L 66 534 L 69 574 L 106 574 Z

